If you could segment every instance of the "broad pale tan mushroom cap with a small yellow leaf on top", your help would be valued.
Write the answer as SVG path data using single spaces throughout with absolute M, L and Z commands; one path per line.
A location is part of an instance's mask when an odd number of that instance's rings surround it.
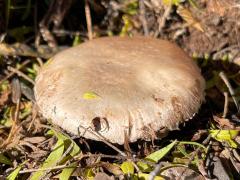
M 123 144 L 178 129 L 204 100 L 197 65 L 176 45 L 105 37 L 55 55 L 39 72 L 37 105 L 63 129 Z M 101 138 L 100 138 L 101 137 Z

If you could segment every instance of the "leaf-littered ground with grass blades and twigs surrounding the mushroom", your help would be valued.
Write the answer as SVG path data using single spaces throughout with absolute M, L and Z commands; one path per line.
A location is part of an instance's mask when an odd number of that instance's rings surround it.
M 239 179 L 239 8 L 238 0 L 0 2 L 0 178 Z M 45 119 L 33 95 L 39 68 L 62 49 L 112 35 L 185 50 L 207 84 L 199 113 L 161 140 L 124 146 Z

